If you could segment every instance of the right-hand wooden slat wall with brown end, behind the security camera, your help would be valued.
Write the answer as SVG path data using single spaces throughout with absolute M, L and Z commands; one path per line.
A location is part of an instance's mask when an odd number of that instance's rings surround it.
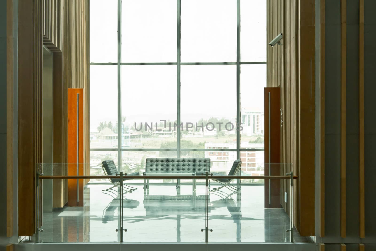
M 314 199 L 306 196 L 314 194 L 314 8 L 311 0 L 267 0 L 267 41 L 283 33 L 282 46 L 267 49 L 267 87 L 281 88 L 280 162 L 293 163 L 282 165 L 281 174 L 293 171 L 299 176 L 294 222 L 305 236 L 314 235 Z M 302 48 L 302 43 L 309 45 Z M 281 194 L 288 189 L 288 182 L 281 182 Z M 283 198 L 280 202 L 290 210 Z

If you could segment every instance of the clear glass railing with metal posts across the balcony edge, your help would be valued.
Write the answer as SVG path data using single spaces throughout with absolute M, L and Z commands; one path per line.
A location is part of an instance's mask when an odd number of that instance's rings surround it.
M 35 241 L 311 241 L 291 231 L 292 164 L 240 166 L 236 176 L 124 166 L 109 176 L 87 163 L 37 164 Z

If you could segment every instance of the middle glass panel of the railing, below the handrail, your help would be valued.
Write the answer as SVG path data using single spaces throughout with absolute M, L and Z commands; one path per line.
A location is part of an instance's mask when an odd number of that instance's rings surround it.
M 152 181 L 152 180 L 150 180 Z M 124 242 L 205 242 L 205 186 L 140 185 L 124 199 Z

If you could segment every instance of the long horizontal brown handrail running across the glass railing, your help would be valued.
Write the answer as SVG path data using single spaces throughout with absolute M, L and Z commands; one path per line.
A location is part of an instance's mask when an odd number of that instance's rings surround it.
M 126 176 L 126 174 L 124 174 Z M 290 180 L 290 176 L 257 176 L 257 175 L 209 175 L 209 179 L 259 179 L 259 180 Z M 293 176 L 296 180 L 298 176 Z M 39 176 L 41 180 L 56 180 L 56 179 L 120 179 L 115 175 L 72 175 L 72 176 Z M 125 177 L 127 179 L 127 177 Z M 162 180 L 162 179 L 180 179 L 180 180 L 205 180 L 205 176 L 202 175 L 132 175 L 129 179 L 150 179 L 150 180 Z

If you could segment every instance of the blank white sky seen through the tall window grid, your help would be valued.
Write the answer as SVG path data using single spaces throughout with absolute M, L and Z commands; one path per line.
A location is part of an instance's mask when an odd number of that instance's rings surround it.
M 122 0 L 122 61 L 176 62 L 176 0 Z M 181 0 L 181 61 L 236 61 L 236 0 Z M 241 0 L 241 61 L 266 61 L 266 0 Z M 90 1 L 90 61 L 117 62 L 117 0 Z M 182 65 L 181 120 L 235 117 L 236 65 Z M 122 115 L 176 119 L 176 65 L 124 65 Z M 241 65 L 241 106 L 264 109 L 266 65 Z M 194 120 L 194 121 L 188 121 Z M 90 67 L 90 127 L 117 121 L 117 66 Z

